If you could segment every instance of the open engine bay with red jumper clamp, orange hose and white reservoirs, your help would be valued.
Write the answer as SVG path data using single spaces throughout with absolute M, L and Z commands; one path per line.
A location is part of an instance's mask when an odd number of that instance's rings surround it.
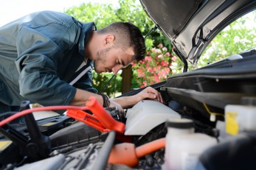
M 1 115 L 0 168 L 255 169 L 255 64 L 243 57 L 152 86 L 165 104 L 142 100 L 120 112 L 96 99 L 86 107 L 22 102 L 21 112 Z

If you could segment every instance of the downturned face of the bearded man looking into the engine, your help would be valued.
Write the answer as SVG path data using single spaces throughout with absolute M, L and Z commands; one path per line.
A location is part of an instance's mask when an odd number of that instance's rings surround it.
M 128 66 L 134 59 L 134 49 L 132 47 L 123 51 L 120 48 L 111 46 L 97 51 L 94 69 L 97 74 L 102 72 L 117 74 L 120 69 Z

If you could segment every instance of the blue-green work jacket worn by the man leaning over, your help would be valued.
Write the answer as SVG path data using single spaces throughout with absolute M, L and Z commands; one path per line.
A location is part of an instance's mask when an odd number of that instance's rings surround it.
M 32 13 L 2 26 L 0 102 L 69 105 L 76 88 L 97 93 L 91 86 L 91 71 L 69 85 L 86 59 L 85 46 L 93 29 L 93 22 L 81 23 L 53 11 Z M 86 66 L 91 64 L 88 60 Z

